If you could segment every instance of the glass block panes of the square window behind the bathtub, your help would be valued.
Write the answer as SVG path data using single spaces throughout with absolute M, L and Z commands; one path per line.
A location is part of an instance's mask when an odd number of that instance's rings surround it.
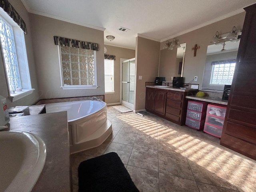
M 96 51 L 60 46 L 62 86 L 96 85 Z

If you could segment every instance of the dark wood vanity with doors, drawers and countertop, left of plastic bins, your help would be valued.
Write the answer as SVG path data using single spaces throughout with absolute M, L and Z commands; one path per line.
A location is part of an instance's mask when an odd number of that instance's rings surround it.
M 188 101 L 186 96 L 195 95 L 197 89 L 146 86 L 148 112 L 156 114 L 178 125 L 184 125 Z

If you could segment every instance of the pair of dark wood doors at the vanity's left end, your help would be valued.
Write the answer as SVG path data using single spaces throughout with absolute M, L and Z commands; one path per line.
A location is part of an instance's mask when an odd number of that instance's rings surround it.
M 167 90 L 146 88 L 146 110 L 164 116 Z

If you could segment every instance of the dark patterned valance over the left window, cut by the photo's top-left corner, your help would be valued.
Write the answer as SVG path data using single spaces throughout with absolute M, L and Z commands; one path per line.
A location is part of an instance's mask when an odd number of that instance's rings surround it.
M 14 7 L 8 0 L 0 0 L 0 7 L 20 26 L 20 28 L 27 34 L 27 28 L 24 20 L 20 17 Z

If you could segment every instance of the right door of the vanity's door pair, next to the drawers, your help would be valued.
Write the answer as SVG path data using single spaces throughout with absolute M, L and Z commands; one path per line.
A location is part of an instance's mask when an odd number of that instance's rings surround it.
M 166 91 L 156 91 L 155 94 L 155 112 L 161 115 L 165 115 L 166 109 Z

